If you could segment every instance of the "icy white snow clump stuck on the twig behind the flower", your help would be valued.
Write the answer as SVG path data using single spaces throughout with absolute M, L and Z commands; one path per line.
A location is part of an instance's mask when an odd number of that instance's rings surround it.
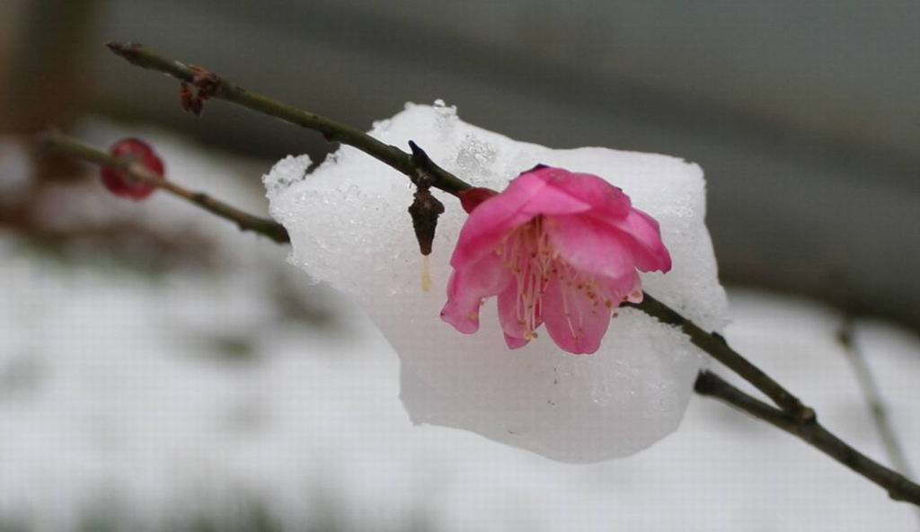
M 695 164 L 517 142 L 460 121 L 440 101 L 407 104 L 371 134 L 404 149 L 414 140 L 443 168 L 497 191 L 537 163 L 608 179 L 658 219 L 673 255 L 673 271 L 643 274 L 644 288 L 704 328 L 726 324 L 704 224 L 705 182 Z M 291 234 L 293 264 L 354 297 L 396 350 L 401 398 L 413 422 L 467 429 L 567 462 L 626 457 L 676 429 L 705 360 L 680 332 L 620 309 L 593 355 L 563 353 L 546 334 L 510 351 L 489 301 L 480 330 L 460 334 L 439 318 L 466 219 L 459 202 L 435 191 L 446 213 L 431 254 L 433 288 L 423 292 L 408 179 L 344 145 L 305 176 L 309 164 L 306 156 L 288 157 L 272 168 L 265 177 L 270 212 Z

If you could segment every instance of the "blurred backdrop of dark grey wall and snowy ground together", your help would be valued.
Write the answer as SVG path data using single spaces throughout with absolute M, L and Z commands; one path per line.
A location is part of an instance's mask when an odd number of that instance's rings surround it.
M 0 530 L 915 529 L 702 401 L 692 428 L 594 468 L 413 429 L 385 342 L 283 249 L 110 198 L 29 139 L 144 136 L 170 175 L 256 212 L 272 161 L 334 147 L 220 102 L 194 119 L 102 46 L 132 40 L 363 129 L 443 98 L 520 140 L 682 156 L 706 171 L 730 338 L 885 460 L 834 341 L 857 316 L 916 461 L 917 28 L 914 1 L 4 0 Z

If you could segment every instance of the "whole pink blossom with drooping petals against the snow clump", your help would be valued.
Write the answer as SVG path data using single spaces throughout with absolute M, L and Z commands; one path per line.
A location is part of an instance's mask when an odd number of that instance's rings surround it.
M 498 295 L 511 349 L 546 323 L 569 353 L 594 353 L 623 301 L 642 299 L 638 271 L 671 270 L 671 255 L 649 214 L 604 179 L 537 166 L 505 191 L 473 189 L 460 231 L 441 318 L 460 332 L 479 329 L 479 306 Z

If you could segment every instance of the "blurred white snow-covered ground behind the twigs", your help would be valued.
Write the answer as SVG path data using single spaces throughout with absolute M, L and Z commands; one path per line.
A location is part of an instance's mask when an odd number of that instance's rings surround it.
M 258 189 L 228 184 L 245 165 L 157 145 L 177 179 L 259 208 Z M 133 205 L 92 186 L 56 197 L 58 224 L 193 229 L 219 267 L 130 272 L 92 249 L 62 263 L 0 235 L 0 530 L 917 528 L 868 481 L 709 399 L 650 450 L 597 465 L 412 426 L 397 356 L 283 249 L 167 197 Z M 730 341 L 884 460 L 834 340 L 840 318 L 742 290 L 730 303 Z M 920 340 L 859 321 L 857 342 L 920 466 Z

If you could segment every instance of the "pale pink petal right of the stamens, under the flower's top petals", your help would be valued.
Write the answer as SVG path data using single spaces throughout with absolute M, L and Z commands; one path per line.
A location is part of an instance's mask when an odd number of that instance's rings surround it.
M 581 214 L 547 217 L 543 226 L 553 249 L 580 272 L 618 279 L 636 270 L 633 249 L 620 230 Z

